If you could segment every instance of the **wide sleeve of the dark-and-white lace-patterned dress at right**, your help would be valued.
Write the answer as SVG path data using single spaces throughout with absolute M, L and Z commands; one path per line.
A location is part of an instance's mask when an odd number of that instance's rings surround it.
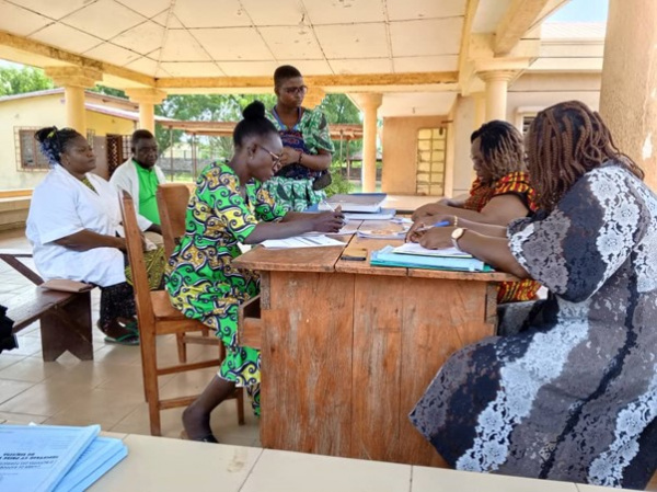
M 511 253 L 532 278 L 564 299 L 588 299 L 645 233 L 645 205 L 633 182 L 618 167 L 585 174 L 545 218 L 509 227 Z

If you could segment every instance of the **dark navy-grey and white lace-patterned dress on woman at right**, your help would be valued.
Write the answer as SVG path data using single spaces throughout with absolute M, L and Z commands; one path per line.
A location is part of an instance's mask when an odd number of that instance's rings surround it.
M 657 197 L 610 163 L 508 237 L 550 297 L 516 334 L 456 353 L 411 421 L 460 470 L 644 489 L 657 466 Z

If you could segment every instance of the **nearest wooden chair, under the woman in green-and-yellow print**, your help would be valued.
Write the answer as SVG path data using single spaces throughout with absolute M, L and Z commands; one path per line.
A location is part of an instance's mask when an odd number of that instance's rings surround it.
M 159 335 L 185 334 L 198 332 L 204 329 L 199 321 L 185 318 L 181 311 L 171 306 L 169 294 L 165 290 L 150 290 L 141 234 L 137 226 L 135 204 L 129 193 L 123 192 L 122 215 L 126 232 L 128 259 L 132 270 L 132 282 L 135 288 L 135 301 L 137 304 L 137 317 L 139 320 L 139 337 L 141 345 L 141 364 L 143 369 L 143 388 L 148 401 L 151 435 L 161 435 L 160 411 L 176 407 L 187 407 L 197 396 L 180 397 L 162 400 L 158 377 L 166 374 L 184 373 L 187 370 L 204 369 L 221 364 L 221 359 L 212 358 L 191 364 L 177 364 L 168 367 L 158 367 Z M 238 404 L 238 422 L 244 424 L 244 397 L 243 391 L 235 391 Z

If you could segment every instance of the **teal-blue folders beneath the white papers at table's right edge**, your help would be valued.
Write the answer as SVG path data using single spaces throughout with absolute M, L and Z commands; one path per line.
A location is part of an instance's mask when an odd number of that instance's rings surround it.
M 437 256 L 395 253 L 393 247 L 372 251 L 372 266 L 403 266 L 406 268 L 453 270 L 461 272 L 493 272 L 488 265 L 475 258 Z

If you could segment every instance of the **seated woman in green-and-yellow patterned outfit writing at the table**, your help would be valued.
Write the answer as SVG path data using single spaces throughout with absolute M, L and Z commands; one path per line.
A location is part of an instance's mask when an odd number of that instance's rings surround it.
M 279 165 L 283 144 L 256 101 L 244 110 L 233 133 L 234 156 L 228 164 L 207 167 L 189 199 L 186 232 L 169 261 L 166 290 L 171 302 L 186 317 L 217 332 L 227 347 L 218 375 L 183 413 L 191 439 L 217 442 L 210 413 L 235 387 L 245 387 L 260 414 L 260 351 L 239 346 L 238 308 L 258 293 L 255 272 L 238 270 L 232 261 L 239 244 L 280 239 L 309 231 L 335 232 L 341 211 L 286 213 L 262 183 Z

